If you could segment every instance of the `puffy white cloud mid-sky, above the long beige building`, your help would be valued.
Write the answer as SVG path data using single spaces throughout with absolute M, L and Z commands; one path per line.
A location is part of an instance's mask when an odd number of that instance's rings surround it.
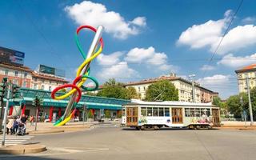
M 178 67 L 168 64 L 165 53 L 156 52 L 153 46 L 149 48 L 134 48 L 126 54 L 126 62 L 145 63 L 146 66 L 154 66 L 158 70 L 177 71 Z

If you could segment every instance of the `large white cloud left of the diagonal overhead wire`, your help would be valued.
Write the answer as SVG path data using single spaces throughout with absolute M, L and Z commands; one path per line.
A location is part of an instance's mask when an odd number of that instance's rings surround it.
M 226 23 L 230 21 L 230 13 L 231 10 L 227 10 L 223 19 L 209 20 L 206 23 L 189 27 L 178 38 L 178 45 L 188 45 L 192 49 L 212 46 L 222 36 Z

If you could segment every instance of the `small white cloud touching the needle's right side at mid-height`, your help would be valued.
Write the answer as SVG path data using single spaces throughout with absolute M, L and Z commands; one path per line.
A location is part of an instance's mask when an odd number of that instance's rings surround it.
M 113 54 L 99 54 L 97 57 L 97 62 L 99 65 L 102 66 L 110 66 L 117 64 L 120 62 L 120 57 L 122 57 L 124 53 L 123 52 L 114 52 Z

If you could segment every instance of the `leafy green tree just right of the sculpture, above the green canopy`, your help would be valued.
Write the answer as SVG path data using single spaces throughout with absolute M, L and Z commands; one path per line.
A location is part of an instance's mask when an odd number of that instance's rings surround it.
M 126 88 L 123 87 L 121 82 L 116 82 L 114 78 L 110 78 L 105 82 L 97 96 L 106 98 L 121 98 L 126 99 Z

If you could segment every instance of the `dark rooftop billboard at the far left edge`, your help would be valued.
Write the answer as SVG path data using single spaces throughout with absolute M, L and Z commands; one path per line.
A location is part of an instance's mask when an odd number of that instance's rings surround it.
M 0 62 L 23 66 L 25 54 L 17 50 L 10 50 L 0 46 Z

